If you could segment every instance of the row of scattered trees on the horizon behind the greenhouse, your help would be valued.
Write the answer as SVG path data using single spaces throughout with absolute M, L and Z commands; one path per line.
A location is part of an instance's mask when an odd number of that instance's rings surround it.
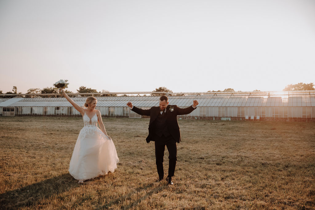
M 16 86 L 13 86 L 12 92 L 6 92 L 5 94 L 22 94 L 21 92 L 17 91 L 18 88 Z M 311 82 L 309 84 L 300 82 L 297 84 L 289 84 L 287 85 L 284 89 L 284 91 L 296 91 L 296 90 L 315 90 L 314 89 L 314 84 Z M 254 91 L 260 91 L 255 89 Z M 72 91 L 65 90 L 66 93 L 73 93 Z M 166 87 L 159 87 L 155 88 L 152 92 L 166 92 L 166 93 L 173 93 L 173 91 L 169 90 Z M 208 92 L 236 92 L 233 88 L 226 88 L 224 90 L 209 90 Z M 241 92 L 241 91 L 238 91 Z M 43 89 L 40 88 L 30 88 L 27 90 L 26 94 L 58 94 L 58 88 L 53 88 L 53 87 L 46 87 Z M 101 92 L 97 92 L 96 89 L 92 88 L 87 88 L 85 86 L 80 86 L 79 89 L 77 89 L 77 93 L 109 93 L 108 90 L 102 90 Z M 2 90 L 0 90 L 0 94 L 2 93 Z M 92 94 L 93 95 L 93 94 Z M 163 95 L 160 93 L 152 93 L 152 96 L 159 96 Z M 82 96 L 89 96 L 89 95 L 82 95 Z M 96 96 L 96 95 L 95 95 Z M 101 94 L 98 96 L 117 96 L 117 94 Z M 123 96 L 127 96 L 124 94 Z M 2 98 L 12 98 L 13 96 L 1 96 Z M 33 95 L 25 96 L 26 98 L 33 98 Z M 60 96 L 41 96 L 41 97 L 60 97 Z

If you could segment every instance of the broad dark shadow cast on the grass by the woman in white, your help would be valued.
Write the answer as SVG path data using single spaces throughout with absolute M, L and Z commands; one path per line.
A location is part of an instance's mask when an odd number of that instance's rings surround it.
M 0 209 L 31 207 L 44 198 L 79 187 L 69 173 L 0 194 Z

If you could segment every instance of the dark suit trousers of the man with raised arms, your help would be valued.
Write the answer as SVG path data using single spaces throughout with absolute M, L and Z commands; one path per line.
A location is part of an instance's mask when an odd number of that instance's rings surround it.
M 177 161 L 177 145 L 175 139 L 172 135 L 165 137 L 162 135 L 161 137 L 155 135 L 155 158 L 157 165 L 157 173 L 159 179 L 163 179 L 164 177 L 164 169 L 163 169 L 163 158 L 164 158 L 164 150 L 165 145 L 167 150 L 169 151 L 169 175 L 168 177 L 174 176 L 175 166 Z

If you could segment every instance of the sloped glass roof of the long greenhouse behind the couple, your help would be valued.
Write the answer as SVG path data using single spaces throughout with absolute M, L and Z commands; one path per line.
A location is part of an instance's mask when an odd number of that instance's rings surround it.
M 199 101 L 199 107 L 283 107 L 283 106 L 315 106 L 315 91 L 282 91 L 282 92 L 233 92 L 233 93 L 180 93 L 169 95 L 169 104 L 180 107 L 192 105 L 193 100 Z M 184 95 L 185 94 L 185 95 Z M 96 97 L 97 106 L 125 107 L 131 101 L 137 107 L 158 106 L 160 96 L 115 96 Z M 82 106 L 87 97 L 73 97 Z M 20 98 L 0 99 L 0 106 L 72 106 L 65 98 Z M 3 104 L 3 105 L 1 105 Z

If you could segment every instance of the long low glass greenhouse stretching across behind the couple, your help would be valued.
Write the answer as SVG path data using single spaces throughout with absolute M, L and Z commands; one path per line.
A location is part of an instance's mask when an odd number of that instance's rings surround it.
M 149 93 L 152 92 L 141 92 Z M 158 106 L 160 96 L 140 96 L 141 93 L 111 93 L 118 96 L 96 94 L 97 109 L 102 116 L 139 118 L 126 105 L 149 109 Z M 108 94 L 108 93 L 107 93 Z M 129 94 L 129 96 L 126 96 Z M 135 96 L 137 94 L 137 96 Z M 199 105 L 192 113 L 180 118 L 204 118 L 221 120 L 271 120 L 273 119 L 313 119 L 315 118 L 315 91 L 280 92 L 206 92 L 206 93 L 165 93 L 170 105 L 181 108 L 192 105 L 197 99 Z M 3 96 L 4 94 L 0 95 Z M 71 95 L 71 94 L 69 94 Z M 95 95 L 95 94 L 94 94 Z M 123 96 L 119 96 L 123 95 Z M 45 96 L 45 98 L 43 97 Z M 46 98 L 46 97 L 50 98 Z M 65 98 L 56 98 L 54 94 L 37 94 L 34 98 L 25 98 L 26 94 L 16 94 L 14 98 L 0 98 L 1 116 L 80 116 Z M 72 99 L 82 106 L 87 96 L 72 94 Z

